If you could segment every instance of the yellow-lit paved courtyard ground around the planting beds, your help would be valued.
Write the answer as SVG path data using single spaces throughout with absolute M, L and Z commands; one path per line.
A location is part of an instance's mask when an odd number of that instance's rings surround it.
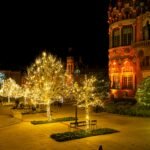
M 74 116 L 74 107 L 69 105 L 52 110 L 56 118 Z M 78 113 L 83 120 L 84 110 L 79 109 Z M 103 150 L 150 150 L 150 118 L 93 112 L 90 118 L 98 120 L 98 128 L 108 127 L 120 132 L 56 142 L 49 136 L 69 131 L 68 122 L 32 125 L 31 120 L 46 119 L 46 114 L 23 115 L 21 122 L 0 115 L 0 150 L 98 150 L 100 144 Z

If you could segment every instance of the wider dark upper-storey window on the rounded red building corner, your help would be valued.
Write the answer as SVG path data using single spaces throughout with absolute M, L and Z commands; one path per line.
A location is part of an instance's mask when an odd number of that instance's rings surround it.
M 132 25 L 123 26 L 122 28 L 122 46 L 131 45 L 133 41 Z

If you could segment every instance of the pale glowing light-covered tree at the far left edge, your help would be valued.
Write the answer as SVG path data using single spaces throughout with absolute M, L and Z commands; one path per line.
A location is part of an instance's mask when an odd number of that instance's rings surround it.
M 22 97 L 22 89 L 15 80 L 8 78 L 3 81 L 0 94 L 1 96 L 8 97 L 8 102 L 10 102 L 10 97 Z

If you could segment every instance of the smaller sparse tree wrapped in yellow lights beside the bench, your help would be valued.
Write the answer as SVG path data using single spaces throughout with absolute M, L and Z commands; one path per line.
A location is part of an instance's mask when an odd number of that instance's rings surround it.
M 79 86 L 75 82 L 71 88 L 71 97 L 76 100 L 78 107 L 84 107 L 86 111 L 87 128 L 89 128 L 89 107 L 95 105 L 102 105 L 102 101 L 95 92 L 96 78 L 91 76 L 83 80 L 83 83 Z

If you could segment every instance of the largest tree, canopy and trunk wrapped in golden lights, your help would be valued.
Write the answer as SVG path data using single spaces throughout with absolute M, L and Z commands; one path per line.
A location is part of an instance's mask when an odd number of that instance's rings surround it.
M 27 70 L 26 86 L 30 89 L 33 103 L 47 104 L 47 115 L 51 120 L 50 105 L 61 99 L 64 85 L 64 69 L 61 61 L 43 52 Z

